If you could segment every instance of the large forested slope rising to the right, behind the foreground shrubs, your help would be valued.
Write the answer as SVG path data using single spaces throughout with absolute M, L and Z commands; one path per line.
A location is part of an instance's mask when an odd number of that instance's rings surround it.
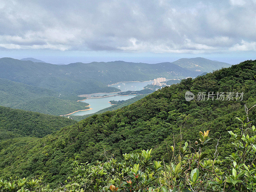
M 230 155 L 227 131 L 239 127 L 237 116 L 244 115 L 244 104 L 256 104 L 256 60 L 244 61 L 230 68 L 188 78 L 180 84 L 162 88 L 135 103 L 102 114 L 88 117 L 77 124 L 36 141 L 4 140 L 0 142 L 0 174 L 4 177 L 44 175 L 52 185 L 66 179 L 72 159 L 79 162 L 105 160 L 106 155 L 122 154 L 137 149 L 153 148 L 158 160 L 167 160 L 168 146 L 176 148 L 188 141 L 194 146 L 198 131 L 210 130 L 212 145 L 206 147 L 212 156 L 217 146 L 219 157 Z M 186 101 L 186 91 L 244 92 L 243 100 L 191 100 Z M 256 120 L 256 111 L 249 114 Z M 182 141 L 180 141 L 180 137 Z M 17 147 L 19 146 L 19 147 Z M 183 146 L 183 145 L 182 145 Z M 15 150 L 13 150 L 15 149 Z M 26 153 L 24 153 L 26 151 Z M 22 159 L 22 161 L 21 161 Z

